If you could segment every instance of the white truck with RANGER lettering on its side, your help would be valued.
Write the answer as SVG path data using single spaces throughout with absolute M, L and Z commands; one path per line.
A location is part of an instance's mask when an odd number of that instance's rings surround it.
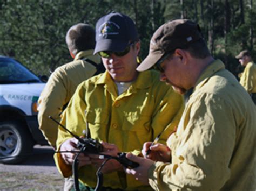
M 0 162 L 21 162 L 33 145 L 47 144 L 37 121 L 37 100 L 44 86 L 21 63 L 0 56 Z

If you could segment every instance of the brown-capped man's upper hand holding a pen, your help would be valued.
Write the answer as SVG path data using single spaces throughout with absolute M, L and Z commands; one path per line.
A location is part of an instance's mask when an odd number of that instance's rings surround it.
M 171 161 L 171 150 L 164 144 L 157 143 L 151 146 L 152 142 L 146 142 L 143 144 L 142 154 L 144 158 L 148 158 L 154 161 L 170 162 Z M 147 150 L 151 152 L 147 155 Z

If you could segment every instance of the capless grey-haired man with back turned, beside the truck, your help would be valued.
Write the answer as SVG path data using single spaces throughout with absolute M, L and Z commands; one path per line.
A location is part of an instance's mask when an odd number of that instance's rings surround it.
M 59 122 L 60 114 L 69 103 L 78 84 L 104 71 L 100 57 L 93 55 L 95 30 L 90 25 L 78 23 L 70 27 L 66 33 L 66 44 L 74 60 L 58 67 L 51 74 L 38 100 L 39 129 L 54 149 L 56 149 L 58 124 L 49 116 Z M 72 177 L 65 180 L 64 189 L 70 190 L 71 187 Z

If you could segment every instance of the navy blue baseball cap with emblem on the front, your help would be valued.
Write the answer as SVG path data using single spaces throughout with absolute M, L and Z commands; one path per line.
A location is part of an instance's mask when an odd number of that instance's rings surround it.
M 119 12 L 111 12 L 96 24 L 96 46 L 93 54 L 100 51 L 122 52 L 129 43 L 138 40 L 133 20 Z

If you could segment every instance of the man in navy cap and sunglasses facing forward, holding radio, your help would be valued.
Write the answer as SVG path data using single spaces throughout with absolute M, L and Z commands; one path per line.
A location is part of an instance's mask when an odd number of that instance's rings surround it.
M 100 18 L 94 53 L 102 57 L 106 72 L 81 83 L 62 116 L 61 123 L 78 136 L 83 136 L 87 123 L 91 138 L 102 142 L 107 155 L 141 155 L 143 143 L 163 130 L 159 142 L 165 143 L 183 112 L 183 97 L 160 82 L 158 72 L 136 71 L 139 51 L 140 41 L 131 18 L 118 12 Z M 58 132 L 58 151 L 78 151 L 75 138 L 61 128 Z M 63 176 L 72 174 L 74 157 L 75 153 L 55 155 Z M 87 190 L 96 187 L 96 171 L 103 161 L 98 155 L 79 155 L 79 180 Z M 126 175 L 116 160 L 107 161 L 102 172 L 105 190 L 150 189 Z

